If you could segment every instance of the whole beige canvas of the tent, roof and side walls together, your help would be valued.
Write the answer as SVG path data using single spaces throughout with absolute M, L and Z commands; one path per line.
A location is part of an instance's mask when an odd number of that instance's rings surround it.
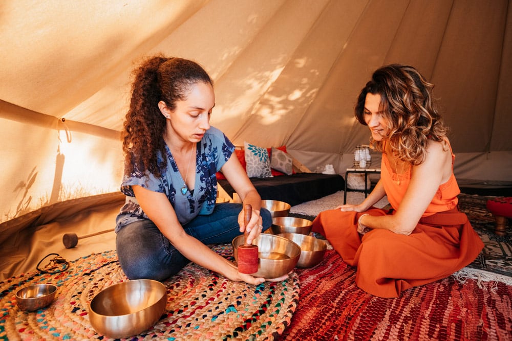
M 436 84 L 456 176 L 512 180 L 510 0 L 7 0 L 0 20 L 3 240 L 19 217 L 118 192 L 131 70 L 155 53 L 205 67 L 211 124 L 235 144 L 340 174 L 368 143 L 360 88 L 414 65 Z

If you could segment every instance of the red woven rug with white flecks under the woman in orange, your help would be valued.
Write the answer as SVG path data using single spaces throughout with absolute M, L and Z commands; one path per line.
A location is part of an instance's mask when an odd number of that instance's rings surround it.
M 280 340 L 512 339 L 512 286 L 501 282 L 451 276 L 383 299 L 359 289 L 333 250 L 296 272 L 300 299 Z

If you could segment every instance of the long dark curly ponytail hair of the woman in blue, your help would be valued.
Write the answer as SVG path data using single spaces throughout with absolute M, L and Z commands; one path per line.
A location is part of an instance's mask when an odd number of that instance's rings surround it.
M 125 174 L 150 171 L 160 177 L 166 162 L 158 164 L 157 155 L 160 152 L 165 160 L 166 120 L 158 103 L 163 101 L 174 110 L 177 101 L 186 99 L 192 85 L 213 82 L 198 63 L 162 55 L 144 60 L 133 75 L 130 108 L 122 133 Z

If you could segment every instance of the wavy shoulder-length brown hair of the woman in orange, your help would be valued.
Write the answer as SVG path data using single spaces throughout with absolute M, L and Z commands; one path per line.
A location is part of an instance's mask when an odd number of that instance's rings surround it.
M 367 94 L 380 95 L 380 111 L 388 123 L 389 140 L 398 157 L 413 165 L 425 158 L 428 140 L 442 141 L 448 132 L 432 96 L 434 84 L 429 83 L 412 66 L 391 64 L 376 70 L 361 90 L 355 106 L 359 123 L 364 118 Z M 370 138 L 373 148 L 383 151 L 383 141 Z

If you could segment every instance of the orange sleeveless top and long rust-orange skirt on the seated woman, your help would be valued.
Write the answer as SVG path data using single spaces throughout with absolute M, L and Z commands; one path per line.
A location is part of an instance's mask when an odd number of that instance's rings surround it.
M 403 290 L 452 275 L 478 256 L 482 240 L 457 207 L 460 190 L 453 175 L 454 157 L 452 152 L 452 176 L 439 187 L 409 236 L 384 229 L 362 237 L 357 232 L 359 216 L 393 214 L 409 186 L 411 169 L 393 173 L 386 154 L 382 154 L 380 178 L 394 210 L 329 210 L 314 219 L 312 231 L 324 235 L 345 262 L 357 266 L 358 287 L 379 297 L 398 297 Z

